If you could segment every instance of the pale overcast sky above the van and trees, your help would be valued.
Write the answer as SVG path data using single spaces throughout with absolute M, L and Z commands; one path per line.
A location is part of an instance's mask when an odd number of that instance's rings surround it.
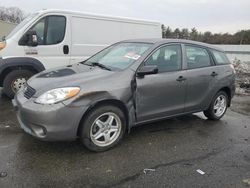
M 27 13 L 56 8 L 155 20 L 171 28 L 234 33 L 250 29 L 250 0 L 1 0 Z

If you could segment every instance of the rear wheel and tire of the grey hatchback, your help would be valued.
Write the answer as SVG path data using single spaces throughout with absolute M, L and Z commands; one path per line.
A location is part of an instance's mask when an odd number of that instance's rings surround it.
M 220 101 L 221 99 L 225 100 L 225 104 L 224 104 L 225 106 L 222 104 L 219 105 L 218 100 Z M 227 107 L 228 107 L 228 102 L 229 102 L 229 99 L 228 99 L 227 93 L 224 91 L 219 91 L 214 96 L 209 108 L 207 110 L 205 110 L 203 113 L 210 120 L 219 120 L 226 113 Z M 221 108 L 219 109 L 218 106 L 220 106 Z M 216 108 L 218 108 L 218 109 L 216 109 Z

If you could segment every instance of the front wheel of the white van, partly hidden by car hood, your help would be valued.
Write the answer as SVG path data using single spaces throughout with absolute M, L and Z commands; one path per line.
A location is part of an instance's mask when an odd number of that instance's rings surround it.
M 20 89 L 21 86 L 32 76 L 34 75 L 33 72 L 29 70 L 13 70 L 4 78 L 3 81 L 3 92 L 9 97 L 13 98 L 15 93 Z M 17 81 L 14 84 L 15 81 Z M 13 86 L 15 85 L 15 87 Z M 16 90 L 14 89 L 16 88 Z

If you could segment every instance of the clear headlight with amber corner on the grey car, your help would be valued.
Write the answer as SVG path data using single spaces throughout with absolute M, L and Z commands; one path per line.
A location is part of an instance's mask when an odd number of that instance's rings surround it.
M 39 104 L 54 104 L 69 99 L 71 97 L 74 97 L 79 92 L 80 92 L 79 87 L 65 87 L 65 88 L 52 89 L 39 96 L 35 100 L 35 102 Z

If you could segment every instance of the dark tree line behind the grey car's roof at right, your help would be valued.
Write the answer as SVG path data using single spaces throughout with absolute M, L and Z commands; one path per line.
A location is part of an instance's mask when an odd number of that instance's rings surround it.
M 171 29 L 162 25 L 162 37 L 189 39 L 210 44 L 250 44 L 250 30 L 241 30 L 234 34 L 212 33 L 210 31 L 202 33 L 196 28 L 192 28 L 191 30 L 187 28 Z

